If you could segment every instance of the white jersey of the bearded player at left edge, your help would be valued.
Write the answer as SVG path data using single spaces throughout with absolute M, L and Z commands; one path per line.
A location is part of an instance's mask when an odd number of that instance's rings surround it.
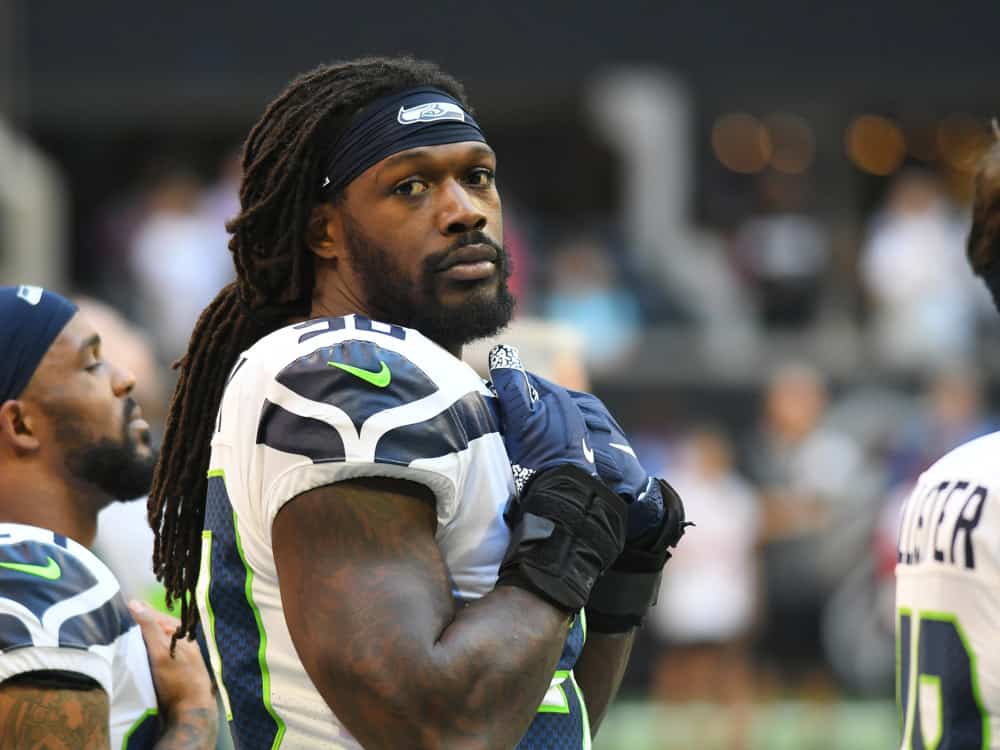
M 72 539 L 0 523 L 0 681 L 38 671 L 73 672 L 104 688 L 114 750 L 155 744 L 146 644 L 111 571 Z

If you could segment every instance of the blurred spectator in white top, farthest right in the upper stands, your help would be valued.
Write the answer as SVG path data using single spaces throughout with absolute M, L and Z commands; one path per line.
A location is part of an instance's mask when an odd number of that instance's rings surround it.
M 915 369 L 972 352 L 984 294 L 963 260 L 965 229 L 937 177 L 911 169 L 896 178 L 861 258 L 886 364 Z

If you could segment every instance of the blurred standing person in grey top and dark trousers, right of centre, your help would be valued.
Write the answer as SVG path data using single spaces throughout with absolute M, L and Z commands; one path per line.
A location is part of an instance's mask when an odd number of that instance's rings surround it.
M 767 627 L 761 647 L 793 685 L 827 688 L 821 613 L 864 549 L 869 526 L 859 527 L 859 506 L 874 490 L 863 481 L 858 446 L 823 423 L 827 389 L 816 370 L 802 364 L 778 368 L 763 407 L 747 456 L 766 513 Z

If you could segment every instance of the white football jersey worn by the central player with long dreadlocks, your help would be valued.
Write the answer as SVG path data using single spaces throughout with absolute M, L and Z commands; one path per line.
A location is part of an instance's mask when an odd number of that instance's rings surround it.
M 476 373 L 400 326 L 309 320 L 240 356 L 212 440 L 197 593 L 241 750 L 360 747 L 313 686 L 285 624 L 271 545 L 281 507 L 350 478 L 425 485 L 452 594 L 476 599 L 496 583 L 510 538 L 503 512 L 514 481 L 499 429 Z M 583 646 L 578 620 L 536 723 L 585 747 L 571 673 Z

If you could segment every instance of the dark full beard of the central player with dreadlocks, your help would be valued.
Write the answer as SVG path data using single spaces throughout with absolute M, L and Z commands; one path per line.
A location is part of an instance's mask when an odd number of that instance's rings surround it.
M 428 256 L 415 280 L 395 260 L 398 254 L 377 246 L 349 216 L 345 216 L 344 234 L 349 259 L 364 285 L 368 308 L 376 320 L 413 328 L 448 350 L 492 336 L 510 323 L 516 304 L 507 288 L 510 256 L 484 232 L 467 232 L 451 247 Z M 465 300 L 457 304 L 442 302 L 436 292 L 438 266 L 459 248 L 475 244 L 496 250 L 495 282 L 469 282 Z

